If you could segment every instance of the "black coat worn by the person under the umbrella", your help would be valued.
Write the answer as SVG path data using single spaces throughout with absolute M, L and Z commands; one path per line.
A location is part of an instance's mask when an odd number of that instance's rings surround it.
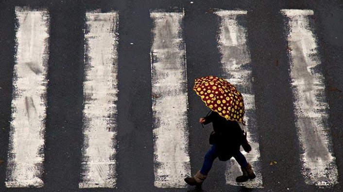
M 240 150 L 240 144 L 245 140 L 243 130 L 237 121 L 226 120 L 217 112 L 211 112 L 205 117 L 205 125 L 212 123 L 214 132 L 218 135 L 215 144 L 219 150 L 219 160 L 229 160 L 234 152 Z

